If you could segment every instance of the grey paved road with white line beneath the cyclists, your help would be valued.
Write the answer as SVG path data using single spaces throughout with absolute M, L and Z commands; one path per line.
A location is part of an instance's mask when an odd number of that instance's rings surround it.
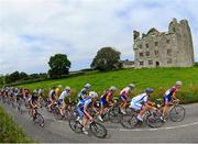
M 183 122 L 167 121 L 163 128 L 151 129 L 140 128 L 134 130 L 127 130 L 121 124 L 105 123 L 108 130 L 106 139 L 97 139 L 94 135 L 76 134 L 74 133 L 67 121 L 57 121 L 53 114 L 45 109 L 40 110 L 45 119 L 45 126 L 40 128 L 33 124 L 29 118 L 28 112 L 20 114 L 10 106 L 3 104 L 6 110 L 13 117 L 14 121 L 20 124 L 25 133 L 33 140 L 38 142 L 92 142 L 92 143 L 193 143 L 198 142 L 198 103 L 184 106 L 186 109 L 186 118 Z

